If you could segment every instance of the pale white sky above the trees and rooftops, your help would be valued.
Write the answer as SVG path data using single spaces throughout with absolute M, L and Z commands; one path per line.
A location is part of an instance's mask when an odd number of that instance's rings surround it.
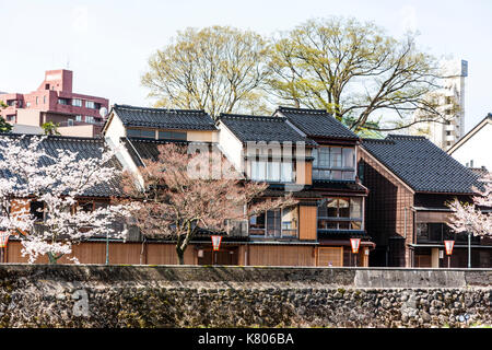
M 421 49 L 468 61 L 466 131 L 492 113 L 491 0 L 0 0 L 0 91 L 37 89 L 45 70 L 73 71 L 73 91 L 150 106 L 140 83 L 149 57 L 186 27 L 231 25 L 262 35 L 309 19 L 353 16 Z

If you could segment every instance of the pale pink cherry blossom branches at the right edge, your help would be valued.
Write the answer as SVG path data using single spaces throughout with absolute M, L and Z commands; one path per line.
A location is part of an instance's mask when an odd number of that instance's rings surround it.
M 462 203 L 455 199 L 448 205 L 453 214 L 449 226 L 456 232 L 471 232 L 478 236 L 492 236 L 492 213 L 480 208 L 492 208 L 492 173 L 482 178 L 481 189 L 473 187 L 477 196 L 472 203 Z

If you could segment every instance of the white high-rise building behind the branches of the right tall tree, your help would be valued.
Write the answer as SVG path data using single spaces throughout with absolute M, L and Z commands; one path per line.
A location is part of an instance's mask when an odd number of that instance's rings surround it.
M 427 137 L 442 150 L 446 151 L 465 136 L 465 78 L 468 77 L 466 60 L 446 60 L 442 62 L 443 85 L 436 92 L 440 121 L 422 121 L 413 125 L 409 132 Z M 418 112 L 414 118 L 425 118 Z

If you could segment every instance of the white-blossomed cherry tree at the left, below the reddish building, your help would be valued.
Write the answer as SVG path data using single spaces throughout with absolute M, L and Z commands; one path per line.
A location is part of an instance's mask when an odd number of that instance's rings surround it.
M 115 151 L 101 150 L 101 158 L 81 158 L 78 152 L 57 150 L 50 155 L 42 147 L 46 137 L 0 138 L 0 224 L 19 234 L 22 255 L 33 264 L 47 255 L 56 264 L 72 253 L 72 245 L 97 234 L 124 238 L 112 223 L 130 213 L 131 203 L 101 206 L 84 211 L 78 198 L 87 189 L 110 183 L 120 171 L 115 167 Z M 43 223 L 36 222 L 30 202 L 43 203 Z M 75 257 L 71 258 L 78 262 Z

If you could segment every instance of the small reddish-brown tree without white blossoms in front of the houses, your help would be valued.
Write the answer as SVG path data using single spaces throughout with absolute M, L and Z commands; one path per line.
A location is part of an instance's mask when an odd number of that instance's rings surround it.
M 132 218 L 142 234 L 176 240 L 180 265 L 199 230 L 225 233 L 234 220 L 296 203 L 292 195 L 266 198 L 268 185 L 245 182 L 218 150 L 190 154 L 169 143 L 159 151 L 138 175 L 126 173 L 124 190 L 141 201 Z

